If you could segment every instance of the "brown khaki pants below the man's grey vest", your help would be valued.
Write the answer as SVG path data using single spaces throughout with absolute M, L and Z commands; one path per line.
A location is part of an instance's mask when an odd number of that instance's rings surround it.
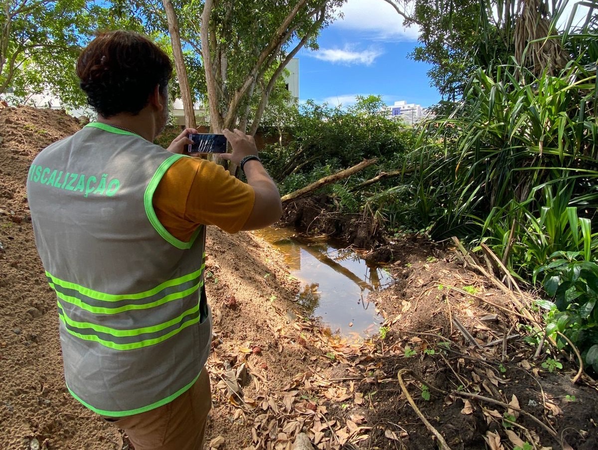
M 208 370 L 170 403 L 121 419 L 106 418 L 124 430 L 135 450 L 202 450 L 212 393 Z

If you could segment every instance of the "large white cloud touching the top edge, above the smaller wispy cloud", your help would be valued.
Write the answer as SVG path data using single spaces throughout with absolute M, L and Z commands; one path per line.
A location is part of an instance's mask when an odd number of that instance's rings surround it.
M 403 18 L 383 0 L 348 0 L 339 12 L 344 17 L 332 26 L 366 32 L 373 39 L 417 40 L 417 27 L 405 28 Z

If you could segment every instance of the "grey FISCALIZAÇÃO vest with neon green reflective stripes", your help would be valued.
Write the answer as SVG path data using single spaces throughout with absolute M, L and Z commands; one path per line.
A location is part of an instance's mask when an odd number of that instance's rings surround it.
M 172 236 L 152 206 L 179 158 L 100 123 L 39 153 L 27 191 L 35 242 L 56 291 L 66 384 L 101 415 L 169 403 L 210 351 L 205 227 Z

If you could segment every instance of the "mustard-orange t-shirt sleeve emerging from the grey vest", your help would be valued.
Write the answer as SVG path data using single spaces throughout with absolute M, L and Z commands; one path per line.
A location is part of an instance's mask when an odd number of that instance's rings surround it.
M 236 233 L 254 207 L 255 192 L 221 165 L 181 158 L 166 171 L 154 192 L 154 210 L 170 234 L 188 242 L 200 225 Z

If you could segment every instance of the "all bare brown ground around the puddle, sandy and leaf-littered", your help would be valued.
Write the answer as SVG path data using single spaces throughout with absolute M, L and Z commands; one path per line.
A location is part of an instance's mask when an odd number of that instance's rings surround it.
M 79 127 L 60 111 L 0 110 L 0 449 L 130 448 L 66 391 L 29 219 L 30 162 Z M 548 345 L 535 357 L 512 294 L 451 249 L 388 248 L 396 283 L 370 297 L 385 324 L 352 344 L 301 316 L 299 286 L 265 242 L 215 229 L 208 241 L 213 448 L 290 449 L 302 431 L 332 450 L 436 449 L 434 431 L 453 450 L 598 448 L 596 384 L 573 384 L 576 367 Z M 550 372 L 548 358 L 563 369 Z

